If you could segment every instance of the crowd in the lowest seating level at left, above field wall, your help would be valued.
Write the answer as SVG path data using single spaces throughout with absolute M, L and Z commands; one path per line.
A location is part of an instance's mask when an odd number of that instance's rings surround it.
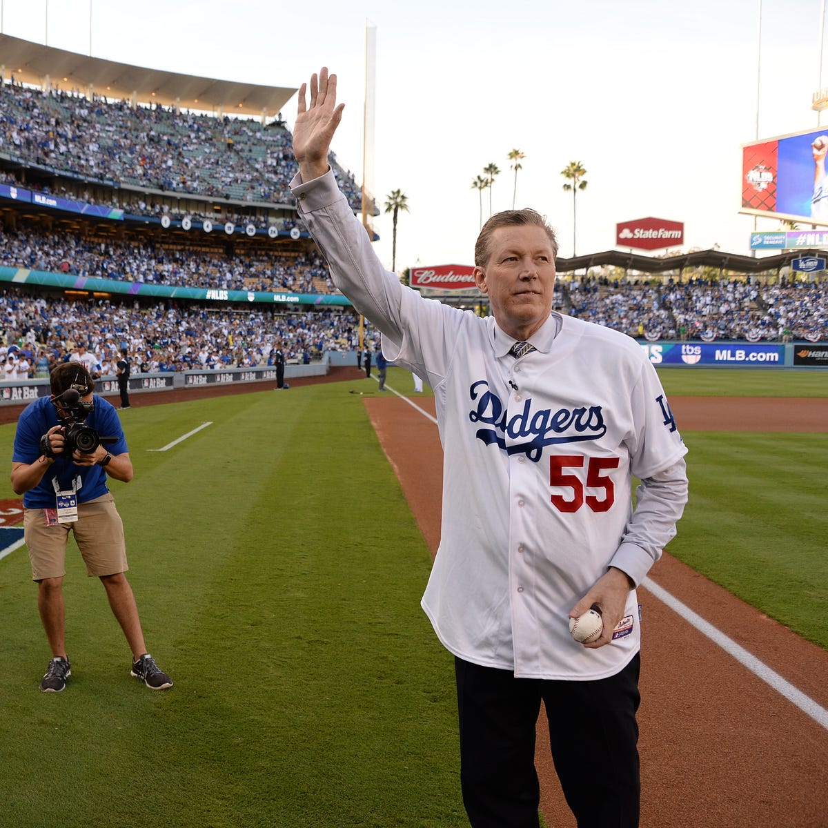
M 370 326 L 364 330 L 373 341 Z M 47 377 L 55 364 L 79 359 L 81 347 L 94 356 L 98 376 L 115 375 L 122 348 L 145 373 L 270 365 L 277 348 L 289 362 L 309 363 L 326 351 L 358 349 L 359 320 L 349 308 L 280 315 L 0 292 L 0 359 L 7 368 L 0 379 Z

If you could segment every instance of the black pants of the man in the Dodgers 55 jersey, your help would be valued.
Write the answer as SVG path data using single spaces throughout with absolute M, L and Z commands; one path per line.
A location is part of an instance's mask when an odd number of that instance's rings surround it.
M 537 828 L 541 701 L 552 759 L 578 828 L 636 828 L 639 667 L 636 655 L 610 678 L 546 681 L 455 658 L 460 782 L 473 828 Z

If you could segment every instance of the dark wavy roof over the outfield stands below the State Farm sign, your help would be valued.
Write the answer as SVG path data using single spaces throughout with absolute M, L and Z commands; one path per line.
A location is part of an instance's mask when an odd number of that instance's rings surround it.
M 556 259 L 559 273 L 570 273 L 576 270 L 585 270 L 599 265 L 623 267 L 625 270 L 636 270 L 643 273 L 664 273 L 668 271 L 681 272 L 686 267 L 715 267 L 737 273 L 764 273 L 787 267 L 792 259 L 801 257 L 826 257 L 825 251 L 819 250 L 786 250 L 776 256 L 756 258 L 742 256 L 739 253 L 724 253 L 721 250 L 696 250 L 693 253 L 682 253 L 679 256 L 656 258 L 645 256 L 643 253 L 630 253 L 623 250 L 605 250 L 604 253 L 590 253 L 586 256 Z

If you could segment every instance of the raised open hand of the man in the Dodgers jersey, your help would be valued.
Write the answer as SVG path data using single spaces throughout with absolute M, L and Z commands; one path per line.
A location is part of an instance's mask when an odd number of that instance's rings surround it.
M 312 181 L 328 171 L 328 152 L 334 132 L 342 120 L 344 103 L 336 104 L 336 75 L 323 66 L 319 77 L 310 75 L 310 105 L 307 84 L 299 88 L 299 108 L 293 128 L 293 155 L 299 162 L 302 181 Z

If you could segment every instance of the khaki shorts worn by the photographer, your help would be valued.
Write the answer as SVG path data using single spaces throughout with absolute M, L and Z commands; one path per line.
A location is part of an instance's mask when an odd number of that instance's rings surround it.
M 66 542 L 75 534 L 86 574 L 102 577 L 126 572 L 127 545 L 123 522 L 112 494 L 78 503 L 78 519 L 46 526 L 45 509 L 26 509 L 23 532 L 29 549 L 32 580 L 62 578 L 66 574 Z

